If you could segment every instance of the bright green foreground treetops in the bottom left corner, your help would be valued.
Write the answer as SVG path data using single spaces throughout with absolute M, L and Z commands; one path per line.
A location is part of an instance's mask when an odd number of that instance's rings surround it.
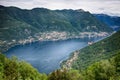
M 16 57 L 8 59 L 0 54 L 0 61 L 0 80 L 47 80 L 45 74 L 40 74 L 30 64 L 18 61 Z

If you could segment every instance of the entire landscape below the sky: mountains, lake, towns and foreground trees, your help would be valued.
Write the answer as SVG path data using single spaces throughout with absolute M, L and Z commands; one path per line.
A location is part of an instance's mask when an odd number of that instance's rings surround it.
M 0 80 L 119 80 L 120 17 L 0 5 Z

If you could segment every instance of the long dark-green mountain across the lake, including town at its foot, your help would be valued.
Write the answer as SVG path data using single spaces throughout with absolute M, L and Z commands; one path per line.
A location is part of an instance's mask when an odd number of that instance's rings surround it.
M 111 32 L 111 28 L 83 10 L 26 10 L 0 6 L 0 51 L 38 40 L 99 36 Z

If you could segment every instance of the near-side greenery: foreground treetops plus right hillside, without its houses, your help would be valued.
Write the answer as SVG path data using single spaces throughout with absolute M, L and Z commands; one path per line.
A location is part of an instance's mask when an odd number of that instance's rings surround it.
M 16 57 L 8 59 L 0 54 L 0 80 L 120 80 L 119 42 L 120 32 L 117 32 L 80 50 L 73 69 L 59 69 L 48 75 Z

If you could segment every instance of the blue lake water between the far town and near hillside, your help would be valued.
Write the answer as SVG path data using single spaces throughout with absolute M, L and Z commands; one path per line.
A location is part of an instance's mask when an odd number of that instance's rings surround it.
M 101 38 L 34 42 L 15 46 L 5 54 L 29 62 L 41 73 L 50 73 L 60 68 L 60 62 L 67 59 L 70 53 L 87 46 L 88 41 L 98 39 Z

